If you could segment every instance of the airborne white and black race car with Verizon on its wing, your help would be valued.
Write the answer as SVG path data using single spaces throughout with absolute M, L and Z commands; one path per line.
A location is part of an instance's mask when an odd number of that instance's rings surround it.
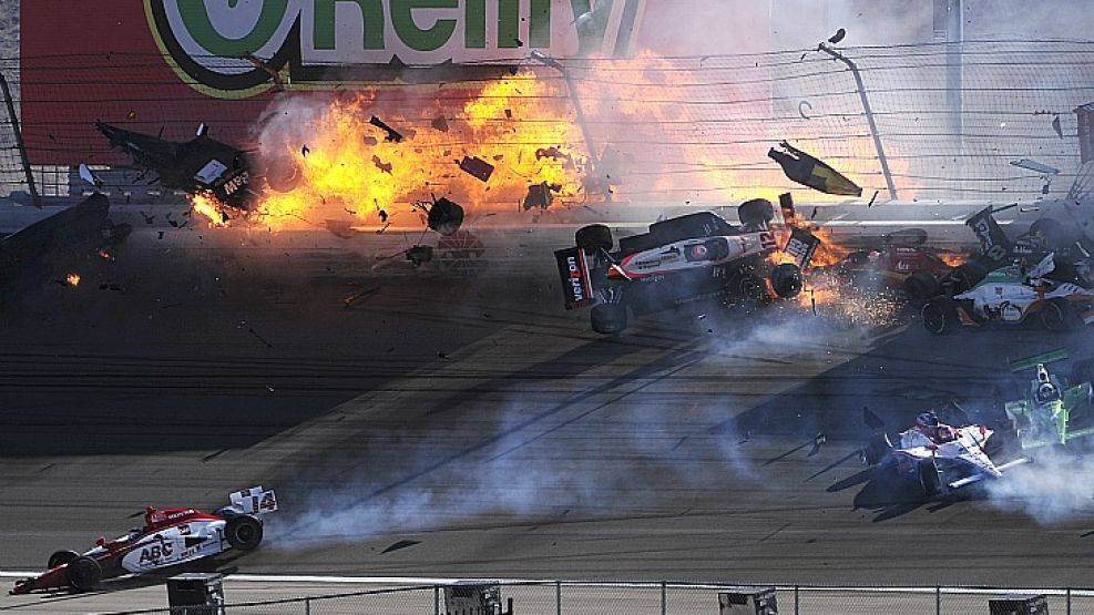
M 582 227 L 575 246 L 556 250 L 566 309 L 592 306 L 592 328 L 615 334 L 627 311 L 650 314 L 703 298 L 761 304 L 801 291 L 801 269 L 820 240 L 804 228 L 771 226 L 775 208 L 756 198 L 737 208 L 735 226 L 713 212 L 654 223 L 622 237 L 604 225 Z M 787 255 L 775 263 L 777 252 Z M 783 259 L 780 259 L 783 260 Z

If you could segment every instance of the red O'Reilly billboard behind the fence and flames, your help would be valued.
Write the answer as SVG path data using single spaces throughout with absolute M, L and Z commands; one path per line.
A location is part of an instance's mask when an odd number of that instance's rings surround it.
M 33 164 L 120 164 L 95 120 L 244 145 L 280 91 L 453 84 L 533 50 L 626 53 L 646 0 L 82 0 L 20 6 Z M 456 85 L 458 89 L 459 86 Z M 403 89 L 402 92 L 406 90 Z

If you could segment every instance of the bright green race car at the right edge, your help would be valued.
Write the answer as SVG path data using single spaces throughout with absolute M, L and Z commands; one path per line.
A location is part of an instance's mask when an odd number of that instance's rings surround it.
M 1008 401 L 1003 409 L 1023 449 L 1067 442 L 1094 433 L 1091 382 L 1072 387 L 1061 383 L 1044 363 L 1037 363 L 1023 399 Z

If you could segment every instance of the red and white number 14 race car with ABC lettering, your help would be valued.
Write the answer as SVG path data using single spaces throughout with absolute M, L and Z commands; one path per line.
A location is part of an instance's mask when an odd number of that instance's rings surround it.
M 277 510 L 277 498 L 273 491 L 256 486 L 232 493 L 229 501 L 212 514 L 149 506 L 143 527 L 112 541 L 100 537 L 83 554 L 58 551 L 50 555 L 45 572 L 16 582 L 10 593 L 65 587 L 90 592 L 103 578 L 186 564 L 229 549 L 257 549 L 263 539 L 262 515 Z

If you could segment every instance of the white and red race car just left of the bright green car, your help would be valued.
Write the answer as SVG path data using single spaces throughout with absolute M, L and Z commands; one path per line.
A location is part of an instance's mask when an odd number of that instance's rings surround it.
M 885 422 L 863 410 L 863 420 L 873 434 L 861 450 L 866 465 L 876 474 L 897 476 L 916 485 L 924 498 L 947 495 L 985 479 L 998 479 L 1008 470 L 1029 463 L 1018 458 L 996 464 L 986 452 L 993 431 L 982 424 L 951 427 L 939 421 L 933 411 L 916 417 L 916 424 L 900 432 L 893 445 Z

